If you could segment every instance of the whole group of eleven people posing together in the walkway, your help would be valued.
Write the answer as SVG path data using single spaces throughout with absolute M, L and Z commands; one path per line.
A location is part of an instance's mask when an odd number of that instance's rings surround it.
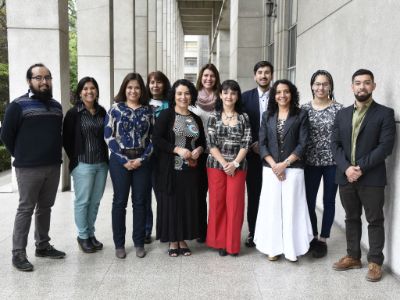
M 36 256 L 62 258 L 49 244 L 50 212 L 61 164 L 69 158 L 74 182 L 77 242 L 85 253 L 101 250 L 95 221 L 108 170 L 113 185 L 112 231 L 116 257 L 126 257 L 126 208 L 132 198 L 132 239 L 136 256 L 152 242 L 152 190 L 157 201 L 156 239 L 168 255 L 192 254 L 197 239 L 219 255 L 240 253 L 247 187 L 247 247 L 275 261 L 295 262 L 327 254 L 339 184 L 346 212 L 347 255 L 335 270 L 361 267 L 361 209 L 369 223 L 367 279 L 382 276 L 385 158 L 391 154 L 392 109 L 376 103 L 371 71 L 353 74 L 355 102 L 336 102 L 332 76 L 316 71 L 313 98 L 300 106 L 289 80 L 273 82 L 273 66 L 254 66 L 255 89 L 241 92 L 234 80 L 220 82 L 213 64 L 203 66 L 196 86 L 186 79 L 170 84 L 160 71 L 129 73 L 110 110 L 99 104 L 94 78 L 77 86 L 73 107 L 62 121 L 52 97 L 47 67 L 28 69 L 29 91 L 7 108 L 1 139 L 14 156 L 20 202 L 13 233 L 13 265 L 33 270 L 26 256 L 35 211 Z M 27 147 L 35 143 L 35 147 Z M 323 179 L 323 215 L 315 212 Z M 208 210 L 207 210 L 208 194 Z M 208 214 L 207 214 L 208 212 Z M 208 218 L 207 218 L 208 215 Z

